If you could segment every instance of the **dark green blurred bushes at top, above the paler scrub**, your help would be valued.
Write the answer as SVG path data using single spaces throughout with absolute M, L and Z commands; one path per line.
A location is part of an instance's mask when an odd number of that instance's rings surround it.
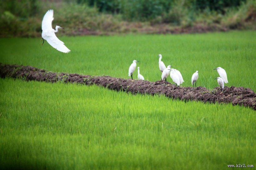
M 224 14 L 226 8 L 237 7 L 246 0 L 77 0 L 77 2 L 97 7 L 100 12 L 121 13 L 126 20 L 148 21 L 158 16 L 168 16 L 176 10 L 176 4 L 179 3 L 183 3 L 185 8 L 190 8 L 194 12 L 210 10 Z M 179 21 L 174 18 L 173 22 Z

